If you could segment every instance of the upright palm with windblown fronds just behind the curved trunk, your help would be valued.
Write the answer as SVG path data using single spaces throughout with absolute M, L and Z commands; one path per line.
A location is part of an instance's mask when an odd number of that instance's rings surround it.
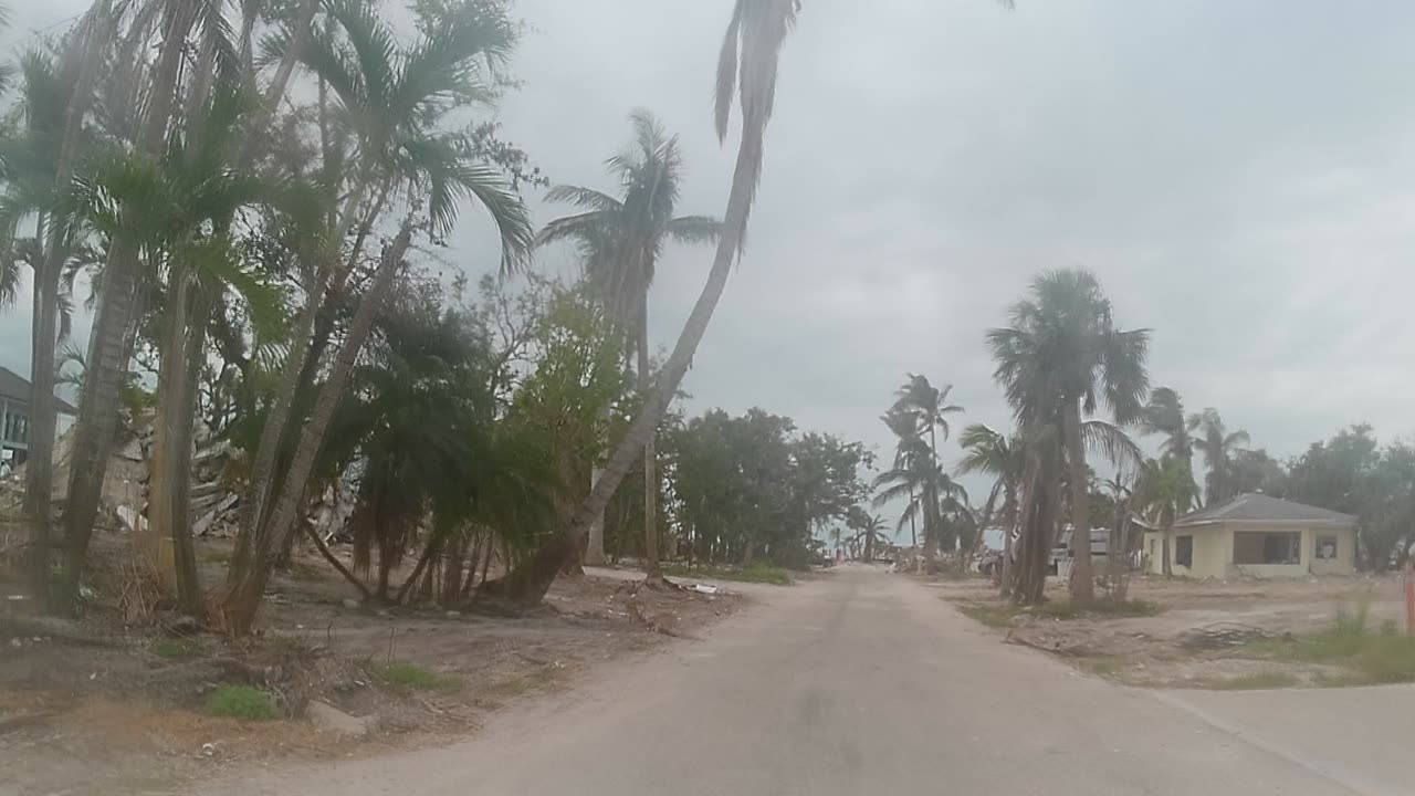
M 648 289 L 654 268 L 669 242 L 708 244 L 722 234 L 722 224 L 708 215 L 674 217 L 683 177 L 678 136 L 668 136 L 647 110 L 630 115 L 634 142 L 606 161 L 620 183 L 620 198 L 577 186 L 556 186 L 549 201 L 569 203 L 582 212 L 556 218 L 536 237 L 536 245 L 574 241 L 584 275 L 617 326 L 638 351 L 638 390 L 652 385 L 648 364 Z M 644 446 L 644 558 L 648 578 L 662 578 L 658 533 L 654 520 L 658 497 L 654 477 L 654 435 Z M 604 562 L 604 523 L 590 533 L 587 564 Z

